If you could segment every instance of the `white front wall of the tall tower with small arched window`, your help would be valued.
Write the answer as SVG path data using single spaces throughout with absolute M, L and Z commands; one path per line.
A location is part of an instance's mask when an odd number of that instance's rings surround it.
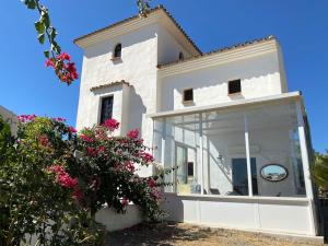
M 157 65 L 157 25 L 152 24 L 131 33 L 95 44 L 84 50 L 80 86 L 77 128 L 96 124 L 98 98 L 90 89 L 96 85 L 125 80 L 131 84 L 128 92 L 118 92 L 126 105 L 116 104 L 114 117 L 122 120 L 126 129 L 139 128 L 145 144 L 151 143 L 152 120 L 145 114 L 155 112 L 156 65 Z M 121 60 L 112 60 L 116 44 L 122 45 Z M 113 89 L 114 90 L 114 89 Z M 104 91 L 105 92 L 105 91 Z M 127 96 L 125 96 L 125 95 Z M 127 105 L 128 104 L 128 105 Z M 116 109 L 120 107 L 120 109 Z M 117 110 L 117 112 L 116 112 Z M 124 116 L 119 116 L 124 112 Z

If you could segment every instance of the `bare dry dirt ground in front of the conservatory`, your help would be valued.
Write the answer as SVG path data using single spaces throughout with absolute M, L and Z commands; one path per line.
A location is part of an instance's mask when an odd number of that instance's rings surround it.
M 318 246 L 258 233 L 200 227 L 184 223 L 140 224 L 108 234 L 109 246 Z M 328 246 L 325 244 L 325 246 Z

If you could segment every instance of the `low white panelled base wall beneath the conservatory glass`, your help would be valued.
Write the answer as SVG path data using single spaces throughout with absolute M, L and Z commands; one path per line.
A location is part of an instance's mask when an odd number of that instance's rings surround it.
M 171 221 L 315 236 L 305 198 L 243 198 L 166 194 Z

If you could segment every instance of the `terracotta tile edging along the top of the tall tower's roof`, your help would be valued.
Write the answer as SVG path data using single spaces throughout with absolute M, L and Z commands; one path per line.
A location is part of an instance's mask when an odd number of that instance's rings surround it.
M 166 14 L 166 15 L 173 21 L 173 23 L 176 25 L 176 27 L 183 33 L 183 35 L 184 35 L 184 36 L 188 39 L 188 42 L 194 46 L 194 48 L 195 48 L 199 54 L 201 54 L 201 50 L 198 48 L 198 46 L 195 44 L 195 42 L 191 40 L 191 38 L 187 35 L 187 33 L 183 30 L 183 27 L 177 23 L 177 21 L 172 16 L 172 14 L 165 9 L 164 5 L 161 4 L 161 5 L 156 7 L 156 8 L 151 9 L 151 10 L 149 11 L 148 14 L 153 13 L 153 12 L 156 12 L 156 11 L 159 11 L 159 10 L 163 10 L 163 11 L 165 12 L 165 14 Z M 85 37 L 89 37 L 89 36 L 92 36 L 92 35 L 94 35 L 94 34 L 101 33 L 101 32 L 103 32 L 103 31 L 105 31 L 105 30 L 110 30 L 110 28 L 113 28 L 113 27 L 115 27 L 115 26 L 118 26 L 118 25 L 120 25 L 120 24 L 124 24 L 124 23 L 127 23 L 127 22 L 129 22 L 129 21 L 133 21 L 133 20 L 137 20 L 137 19 L 140 19 L 140 17 L 142 17 L 142 16 L 140 16 L 139 14 L 137 14 L 137 15 L 133 15 L 133 16 L 131 16 L 131 17 L 125 19 L 125 20 L 122 20 L 122 21 L 116 22 L 116 23 L 114 23 L 114 24 L 112 24 L 112 25 L 108 25 L 108 26 L 106 26 L 106 27 L 104 27 L 104 28 L 96 30 L 96 31 L 94 31 L 94 32 L 92 32 L 92 33 L 89 33 L 89 34 L 86 34 L 86 35 L 83 35 L 83 36 L 81 36 L 81 37 L 75 38 L 75 39 L 74 39 L 74 44 L 77 44 L 77 42 L 79 42 L 79 40 L 81 40 L 81 39 L 83 39 L 83 38 L 85 38 Z

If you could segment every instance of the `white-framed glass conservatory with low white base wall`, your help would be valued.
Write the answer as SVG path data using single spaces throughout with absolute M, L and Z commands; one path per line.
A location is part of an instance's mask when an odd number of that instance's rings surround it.
M 298 93 L 151 117 L 154 156 L 174 169 L 165 176 L 172 220 L 316 234 Z M 285 215 L 295 220 L 281 225 Z

